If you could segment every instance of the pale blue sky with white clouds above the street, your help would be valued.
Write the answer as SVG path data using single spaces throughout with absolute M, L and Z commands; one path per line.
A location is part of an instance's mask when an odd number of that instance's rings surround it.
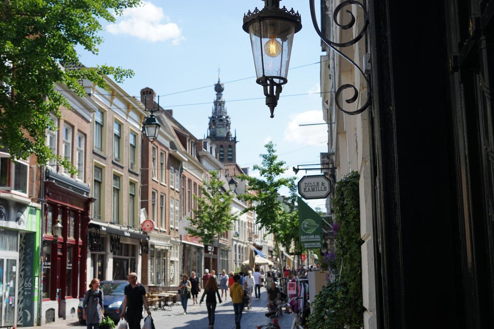
M 318 1 L 316 1 L 318 2 Z M 105 41 L 97 56 L 79 48 L 86 66 L 109 64 L 132 69 L 135 76 L 122 83 L 130 95 L 138 96 L 144 87 L 165 95 L 182 90 L 212 85 L 217 81 L 218 65 L 221 81 L 255 76 L 248 34 L 242 30 L 243 15 L 263 1 L 152 0 L 144 6 L 129 9 L 116 25 L 105 24 Z M 294 7 L 302 16 L 302 30 L 295 35 L 290 67 L 320 61 L 321 41 L 310 19 L 306 1 L 283 0 L 282 5 Z M 283 95 L 318 92 L 320 64 L 290 70 Z M 213 87 L 160 97 L 160 105 L 173 109 L 173 116 L 196 137 L 203 138 L 215 97 Z M 327 152 L 326 125 L 299 127 L 300 123 L 323 122 L 319 94 L 281 97 L 275 117 L 269 117 L 264 99 L 233 101 L 263 97 L 255 78 L 225 84 L 223 97 L 232 129 L 237 130 L 237 163 L 241 166 L 259 164 L 263 145 L 272 140 L 280 159 L 287 165 L 319 162 L 319 153 Z M 178 106 L 191 103 L 204 105 Z M 233 132 L 232 132 L 233 133 Z M 313 172 L 316 173 L 316 172 Z M 295 175 L 290 169 L 286 175 Z M 298 178 L 304 172 L 298 173 Z M 286 191 L 282 191 L 286 192 Z M 312 200 L 311 206 L 324 200 Z M 324 208 L 324 207 L 323 207 Z

